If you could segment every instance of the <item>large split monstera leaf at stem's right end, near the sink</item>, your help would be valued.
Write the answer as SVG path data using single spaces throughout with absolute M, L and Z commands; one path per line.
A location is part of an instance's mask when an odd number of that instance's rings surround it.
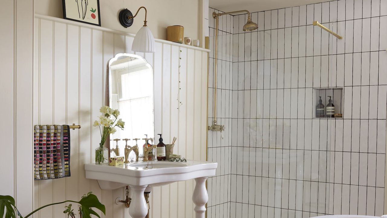
M 80 206 L 80 213 L 82 214 L 82 218 L 91 218 L 91 215 L 95 215 L 99 218 L 101 218 L 96 211 L 92 210 L 91 208 L 97 208 L 104 215 L 106 215 L 105 206 L 99 202 L 98 197 L 94 194 L 91 194 L 91 192 L 87 193 L 87 195 L 82 196 L 82 199 L 79 201 Z

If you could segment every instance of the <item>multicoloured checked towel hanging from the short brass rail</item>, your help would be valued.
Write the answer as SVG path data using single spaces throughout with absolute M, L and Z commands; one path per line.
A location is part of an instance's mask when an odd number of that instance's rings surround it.
M 69 130 L 68 125 L 34 126 L 35 180 L 70 176 Z

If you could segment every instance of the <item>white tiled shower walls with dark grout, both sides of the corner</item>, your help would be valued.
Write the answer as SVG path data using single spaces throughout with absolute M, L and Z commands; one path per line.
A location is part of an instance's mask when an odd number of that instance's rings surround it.
M 233 16 L 229 40 L 219 38 L 217 104 L 226 133 L 210 131 L 208 152 L 228 171 L 209 179 L 209 217 L 382 215 L 387 0 L 255 12 L 259 29 L 247 33 L 246 18 Z M 313 88 L 325 87 L 344 88 L 344 118 L 313 118 Z M 223 172 L 227 187 L 217 182 Z

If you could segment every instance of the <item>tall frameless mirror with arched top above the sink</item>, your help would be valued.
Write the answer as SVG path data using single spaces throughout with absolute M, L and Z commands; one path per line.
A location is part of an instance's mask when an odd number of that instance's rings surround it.
M 140 156 L 143 153 L 147 134 L 154 139 L 154 101 L 153 101 L 153 69 L 139 55 L 120 53 L 110 59 L 109 64 L 109 106 L 120 111 L 119 118 L 125 122 L 123 130 L 118 129 L 110 136 L 110 151 L 118 143 L 120 156 L 125 149 L 125 138 L 130 140 L 131 147 L 139 146 Z M 114 139 L 119 139 L 114 141 Z M 153 140 L 150 141 L 152 143 Z M 129 158 L 135 157 L 131 152 Z

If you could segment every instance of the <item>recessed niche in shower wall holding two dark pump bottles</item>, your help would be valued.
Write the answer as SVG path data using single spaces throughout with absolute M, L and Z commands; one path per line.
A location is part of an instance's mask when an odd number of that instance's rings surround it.
M 335 114 L 343 114 L 344 106 L 344 89 L 343 87 L 331 87 L 331 88 L 313 88 L 313 118 L 314 119 L 330 119 L 330 118 L 317 118 L 316 106 L 319 104 L 319 96 L 321 96 L 322 104 L 324 104 L 324 114 L 326 115 L 326 107 L 329 103 L 329 96 L 332 98 L 332 103 L 335 106 Z M 344 116 L 344 114 L 343 114 Z M 342 117 L 334 117 L 331 119 L 342 119 Z

